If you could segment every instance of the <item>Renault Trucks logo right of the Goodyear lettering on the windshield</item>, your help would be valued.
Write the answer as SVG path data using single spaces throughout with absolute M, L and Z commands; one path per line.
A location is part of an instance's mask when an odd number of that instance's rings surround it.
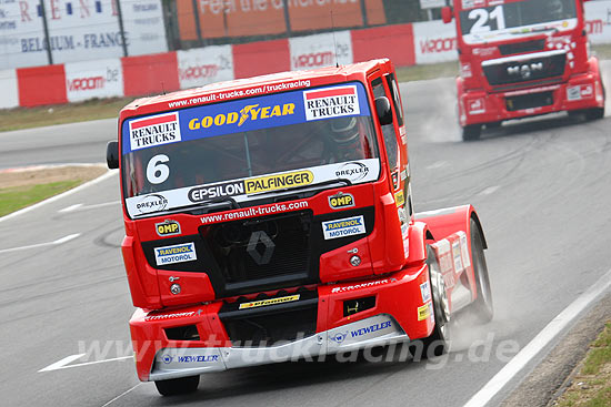
M 303 92 L 306 120 L 360 114 L 357 87 L 317 89 Z

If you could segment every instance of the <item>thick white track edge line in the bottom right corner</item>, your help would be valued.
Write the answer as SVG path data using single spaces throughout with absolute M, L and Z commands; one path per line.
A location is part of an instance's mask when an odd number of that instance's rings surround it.
M 463 407 L 485 406 L 520 370 L 592 302 L 611 287 L 611 269 L 553 318 L 518 355 L 488 381 Z

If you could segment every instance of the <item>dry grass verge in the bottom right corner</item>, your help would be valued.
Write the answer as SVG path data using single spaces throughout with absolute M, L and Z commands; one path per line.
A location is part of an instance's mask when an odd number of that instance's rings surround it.
M 581 370 L 553 406 L 611 406 L 611 322 L 607 323 L 604 330 L 590 344 Z

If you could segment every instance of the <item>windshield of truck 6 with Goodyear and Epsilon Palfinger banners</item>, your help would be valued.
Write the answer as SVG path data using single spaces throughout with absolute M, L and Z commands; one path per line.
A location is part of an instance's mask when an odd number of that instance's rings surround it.
M 361 83 L 171 111 L 122 123 L 131 217 L 294 187 L 374 181 L 380 164 Z

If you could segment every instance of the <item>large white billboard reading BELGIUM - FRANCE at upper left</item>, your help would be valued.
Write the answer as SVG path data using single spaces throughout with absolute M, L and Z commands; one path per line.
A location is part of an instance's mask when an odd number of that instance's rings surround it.
M 44 0 L 53 63 L 123 57 L 114 0 Z M 128 54 L 166 52 L 160 0 L 121 1 Z M 48 64 L 39 0 L 0 0 L 0 69 Z

